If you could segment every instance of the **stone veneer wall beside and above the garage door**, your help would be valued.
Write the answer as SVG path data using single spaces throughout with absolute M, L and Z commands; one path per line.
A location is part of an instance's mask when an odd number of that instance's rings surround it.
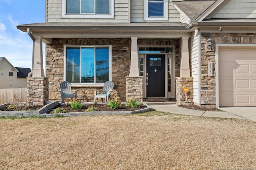
M 206 40 L 212 39 L 212 50 L 206 50 Z M 256 33 L 201 33 L 201 105 L 216 105 L 215 43 L 256 43 Z M 208 62 L 213 63 L 213 75 L 208 76 Z

